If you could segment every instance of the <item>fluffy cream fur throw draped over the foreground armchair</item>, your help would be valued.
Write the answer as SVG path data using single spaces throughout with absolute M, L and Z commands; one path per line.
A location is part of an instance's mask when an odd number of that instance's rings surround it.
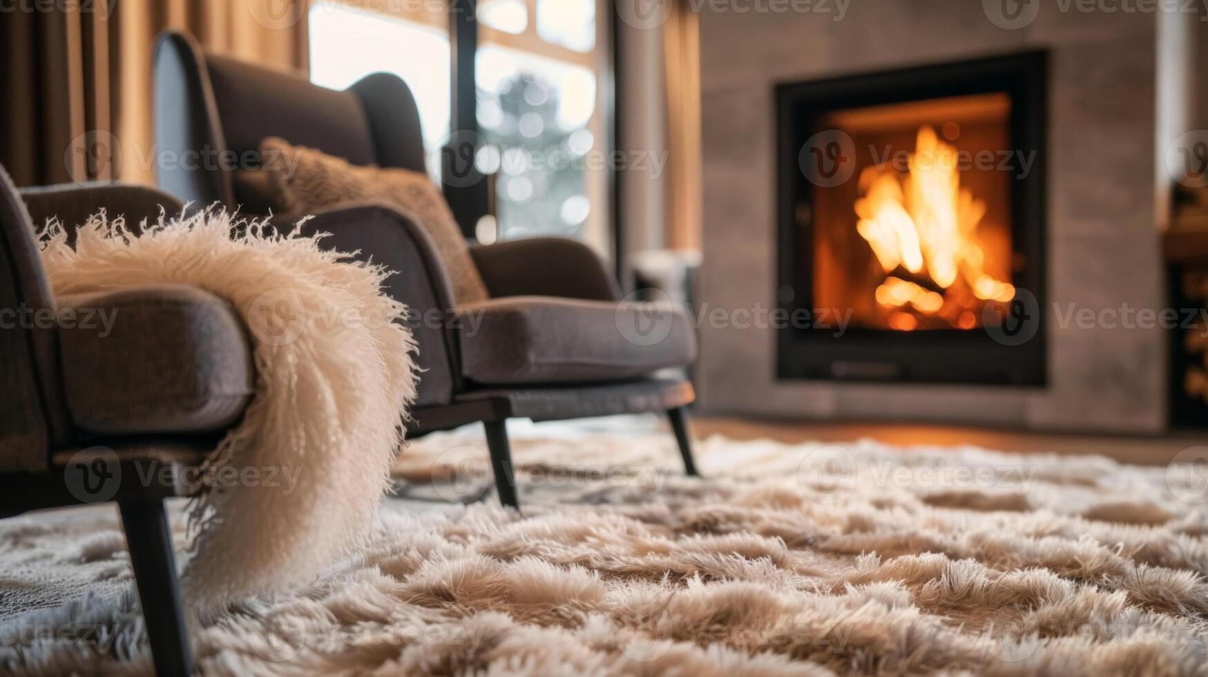
M 285 469 L 297 481 L 194 499 L 184 577 L 194 604 L 307 583 L 364 543 L 416 394 L 416 345 L 406 308 L 382 291 L 384 270 L 217 209 L 161 214 L 138 231 L 101 213 L 74 249 L 59 224 L 42 241 L 56 294 L 196 285 L 251 329 L 256 394 L 207 465 Z

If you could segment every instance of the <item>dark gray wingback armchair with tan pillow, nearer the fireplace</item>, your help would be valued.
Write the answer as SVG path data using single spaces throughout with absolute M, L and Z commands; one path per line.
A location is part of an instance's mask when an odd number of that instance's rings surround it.
M 179 157 L 255 157 L 265 138 L 280 137 L 353 164 L 425 170 L 416 102 L 394 75 L 373 74 L 337 92 L 204 53 L 188 36 L 167 33 L 156 48 L 155 83 L 156 144 Z M 249 181 L 234 174 L 202 162 L 161 164 L 157 177 L 181 199 L 255 212 L 256 196 L 242 195 Z M 518 505 L 506 434 L 512 417 L 667 412 L 685 468 L 696 474 L 685 410 L 692 386 L 658 375 L 695 359 L 691 323 L 670 305 L 618 303 L 611 272 L 585 244 L 534 238 L 472 247 L 490 299 L 458 307 L 426 231 L 400 212 L 342 207 L 304 228 L 331 233 L 326 247 L 397 271 L 388 291 L 412 309 L 425 369 L 410 432 L 483 422 L 504 504 Z

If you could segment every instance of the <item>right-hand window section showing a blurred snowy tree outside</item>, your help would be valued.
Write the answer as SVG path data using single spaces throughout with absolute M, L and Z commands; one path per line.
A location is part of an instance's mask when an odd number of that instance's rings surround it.
M 483 18 L 503 4 L 523 29 Z M 596 12 L 597 0 L 480 6 L 478 127 L 488 144 L 480 169 L 495 179 L 495 218 L 478 228 L 480 239 L 556 235 L 606 249 Z

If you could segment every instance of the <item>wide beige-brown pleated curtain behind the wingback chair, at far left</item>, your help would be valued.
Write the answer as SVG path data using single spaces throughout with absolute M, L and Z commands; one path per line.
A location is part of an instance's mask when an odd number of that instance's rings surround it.
M 151 54 L 164 29 L 306 68 L 307 0 L 64 0 L 0 22 L 0 164 L 18 185 L 155 180 Z

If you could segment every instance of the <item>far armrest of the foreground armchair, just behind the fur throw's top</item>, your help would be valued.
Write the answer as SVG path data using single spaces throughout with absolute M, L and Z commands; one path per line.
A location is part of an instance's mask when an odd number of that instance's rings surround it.
M 110 218 L 126 216 L 133 226 L 143 219 L 158 219 L 161 208 L 168 215 L 184 208 L 179 199 L 161 190 L 134 184 L 59 184 L 21 189 L 19 192 L 36 228 L 57 218 L 70 231 L 101 209 Z

